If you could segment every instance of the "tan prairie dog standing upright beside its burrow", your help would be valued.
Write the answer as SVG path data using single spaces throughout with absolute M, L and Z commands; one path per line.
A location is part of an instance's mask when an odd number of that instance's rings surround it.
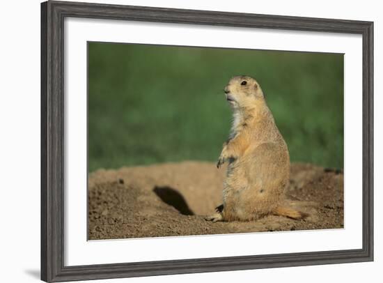
M 225 87 L 233 125 L 217 167 L 228 162 L 223 205 L 206 217 L 216 221 L 257 220 L 268 214 L 294 219 L 306 215 L 286 204 L 290 157 L 255 79 L 237 76 Z

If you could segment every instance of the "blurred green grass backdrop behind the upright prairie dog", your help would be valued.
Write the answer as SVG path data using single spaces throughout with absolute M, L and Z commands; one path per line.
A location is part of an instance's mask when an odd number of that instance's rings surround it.
M 292 162 L 343 168 L 343 54 L 88 43 L 88 165 L 216 161 L 224 86 L 255 77 Z

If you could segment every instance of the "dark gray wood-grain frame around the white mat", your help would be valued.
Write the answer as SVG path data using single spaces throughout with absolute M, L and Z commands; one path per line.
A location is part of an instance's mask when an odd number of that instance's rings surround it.
M 63 22 L 65 17 L 361 34 L 363 37 L 363 247 L 360 250 L 64 266 Z M 359 261 L 373 261 L 373 22 L 60 1 L 41 4 L 42 280 L 60 282 Z

